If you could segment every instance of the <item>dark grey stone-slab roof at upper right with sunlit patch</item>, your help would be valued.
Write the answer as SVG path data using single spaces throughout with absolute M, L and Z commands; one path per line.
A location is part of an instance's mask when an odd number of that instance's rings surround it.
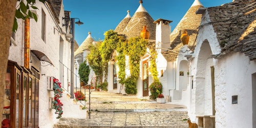
M 256 59 L 255 5 L 255 1 L 237 0 L 207 9 L 210 17 L 208 24 L 214 27 L 221 46 L 219 56 L 242 52 L 250 60 Z

